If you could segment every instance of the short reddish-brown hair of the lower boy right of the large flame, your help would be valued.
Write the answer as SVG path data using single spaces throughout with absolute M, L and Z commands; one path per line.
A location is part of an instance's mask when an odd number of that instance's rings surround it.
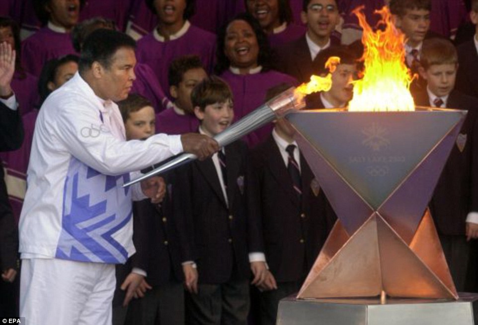
M 423 41 L 420 65 L 426 70 L 432 65 L 458 64 L 457 49 L 444 38 L 430 38 Z

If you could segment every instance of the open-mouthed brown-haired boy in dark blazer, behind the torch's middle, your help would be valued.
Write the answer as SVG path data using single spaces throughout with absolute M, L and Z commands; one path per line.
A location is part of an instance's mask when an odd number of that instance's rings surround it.
M 232 92 L 222 79 L 206 78 L 191 99 L 200 133 L 214 136 L 232 123 Z M 245 325 L 250 270 L 257 281 L 265 273 L 256 257 L 257 226 L 245 209 L 246 153 L 245 143 L 236 141 L 178 170 L 181 204 L 175 208 L 190 219 L 199 275 L 197 292 L 186 294 L 187 324 Z

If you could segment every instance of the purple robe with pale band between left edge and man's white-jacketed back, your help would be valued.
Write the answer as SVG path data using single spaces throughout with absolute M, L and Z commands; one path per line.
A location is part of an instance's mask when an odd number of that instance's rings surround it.
M 8 198 L 17 222 L 20 218 L 20 211 L 26 192 L 26 172 L 30 160 L 33 130 L 37 116 L 38 110 L 33 110 L 23 115 L 22 121 L 25 135 L 21 147 L 14 151 L 0 153 L 0 160 L 3 161 L 6 168 L 5 183 L 9 192 Z M 15 190 L 11 191 L 12 188 Z

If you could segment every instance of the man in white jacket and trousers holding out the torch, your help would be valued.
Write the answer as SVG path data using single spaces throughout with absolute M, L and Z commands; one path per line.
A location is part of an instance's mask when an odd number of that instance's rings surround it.
M 135 79 L 135 42 L 97 30 L 79 72 L 44 102 L 20 216 L 20 315 L 30 324 L 111 324 L 115 263 L 134 252 L 132 199 L 159 200 L 158 179 L 123 189 L 130 173 L 181 151 L 218 150 L 200 134 L 125 140 L 116 101 Z

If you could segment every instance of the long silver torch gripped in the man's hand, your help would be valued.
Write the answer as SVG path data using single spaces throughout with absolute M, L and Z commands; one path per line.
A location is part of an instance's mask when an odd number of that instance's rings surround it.
M 305 102 L 303 96 L 296 94 L 295 88 L 291 87 L 275 96 L 267 103 L 259 106 L 226 130 L 216 134 L 213 138 L 219 143 L 220 147 L 224 147 L 263 125 L 272 122 L 277 118 L 283 117 L 291 111 L 300 110 L 304 107 Z M 141 182 L 147 178 L 167 172 L 196 159 L 196 155 L 192 153 L 180 154 L 176 158 L 159 166 L 151 172 L 124 184 L 123 187 Z

